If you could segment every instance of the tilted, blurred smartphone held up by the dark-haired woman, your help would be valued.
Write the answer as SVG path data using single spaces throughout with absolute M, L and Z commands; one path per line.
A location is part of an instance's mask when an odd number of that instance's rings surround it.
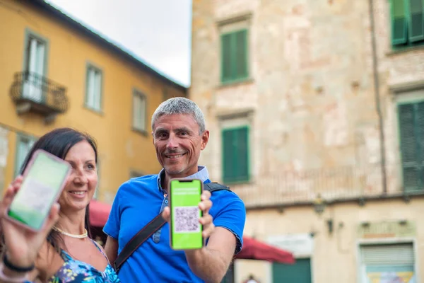
M 42 149 L 35 151 L 23 173 L 22 185 L 6 210 L 6 218 L 40 231 L 70 172 L 66 161 Z

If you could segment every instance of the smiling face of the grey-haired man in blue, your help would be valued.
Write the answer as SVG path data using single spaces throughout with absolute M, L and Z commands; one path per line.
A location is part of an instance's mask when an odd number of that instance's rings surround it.
M 160 165 L 171 178 L 184 178 L 197 172 L 197 162 L 209 139 L 199 134 L 192 115 L 163 115 L 153 125 L 153 144 Z

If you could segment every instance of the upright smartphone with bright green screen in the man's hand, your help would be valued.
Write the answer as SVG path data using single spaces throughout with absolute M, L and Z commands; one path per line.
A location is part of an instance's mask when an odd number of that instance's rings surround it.
M 198 179 L 170 180 L 170 246 L 174 250 L 202 248 L 203 226 L 199 223 L 203 215 L 199 209 L 203 183 Z

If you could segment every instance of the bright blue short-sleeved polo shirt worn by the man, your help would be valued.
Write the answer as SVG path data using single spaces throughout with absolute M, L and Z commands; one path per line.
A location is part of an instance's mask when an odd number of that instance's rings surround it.
M 167 206 L 166 192 L 160 185 L 163 172 L 133 178 L 119 187 L 103 229 L 108 236 L 117 239 L 118 253 Z M 211 182 L 204 166 L 199 166 L 199 172 L 187 178 Z M 213 224 L 235 235 L 235 253 L 240 252 L 246 220 L 245 204 L 234 192 L 226 190 L 213 192 L 211 201 L 209 214 L 213 216 Z M 165 224 L 126 260 L 119 271 L 119 279 L 122 282 L 204 282 L 190 270 L 184 252 L 170 248 L 169 236 L 169 224 Z

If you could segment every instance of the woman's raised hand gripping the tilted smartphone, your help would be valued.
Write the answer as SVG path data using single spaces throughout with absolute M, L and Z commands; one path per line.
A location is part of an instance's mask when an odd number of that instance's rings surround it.
M 5 218 L 6 210 L 16 196 L 22 176 L 18 176 L 8 186 L 3 200 L 0 203 L 1 230 L 4 234 L 5 249 L 8 261 L 16 267 L 30 267 L 35 264 L 37 253 L 46 241 L 49 231 L 59 219 L 59 204 L 54 204 L 45 221 L 44 226 L 38 232 L 30 231 Z M 2 260 L 2 259 L 0 259 Z

